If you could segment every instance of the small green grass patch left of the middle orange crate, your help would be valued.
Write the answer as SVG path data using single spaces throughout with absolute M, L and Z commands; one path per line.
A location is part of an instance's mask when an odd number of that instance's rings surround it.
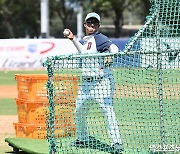
M 0 115 L 17 115 L 17 107 L 15 99 L 1 98 L 0 99 Z

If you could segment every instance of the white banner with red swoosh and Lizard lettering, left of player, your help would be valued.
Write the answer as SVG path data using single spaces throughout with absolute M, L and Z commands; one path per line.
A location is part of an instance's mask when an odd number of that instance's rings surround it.
M 1 39 L 0 69 L 39 69 L 48 56 L 77 52 L 68 39 Z

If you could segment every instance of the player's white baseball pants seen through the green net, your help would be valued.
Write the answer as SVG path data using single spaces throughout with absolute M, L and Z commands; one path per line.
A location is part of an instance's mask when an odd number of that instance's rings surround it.
M 99 103 L 102 108 L 111 142 L 120 143 L 121 136 L 117 118 L 113 109 L 114 78 L 106 75 L 100 80 L 83 81 L 76 100 L 75 122 L 76 135 L 80 140 L 86 140 L 89 136 L 86 116 L 93 101 Z

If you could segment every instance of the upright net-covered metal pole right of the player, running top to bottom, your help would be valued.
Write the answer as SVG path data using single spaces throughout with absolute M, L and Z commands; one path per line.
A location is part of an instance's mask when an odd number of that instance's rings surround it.
M 164 102 L 163 102 L 163 78 L 162 78 L 162 51 L 160 48 L 160 26 L 161 23 L 159 22 L 159 7 L 158 7 L 158 0 L 156 1 L 156 48 L 157 48 L 157 71 L 158 71 L 158 100 L 159 100 L 159 112 L 160 112 L 160 135 L 161 135 L 161 148 L 164 149 L 165 145 L 165 126 L 164 126 Z

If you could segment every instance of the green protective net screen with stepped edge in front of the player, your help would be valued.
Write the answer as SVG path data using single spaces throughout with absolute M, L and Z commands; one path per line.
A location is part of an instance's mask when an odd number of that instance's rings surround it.
M 47 59 L 49 153 L 179 152 L 180 1 L 151 3 L 123 51 Z

